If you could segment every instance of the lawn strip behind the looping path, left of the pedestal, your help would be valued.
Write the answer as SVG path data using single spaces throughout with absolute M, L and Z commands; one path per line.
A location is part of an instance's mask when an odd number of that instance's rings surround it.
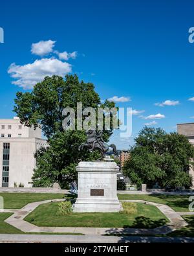
M 5 209 L 21 209 L 28 203 L 49 199 L 60 199 L 64 194 L 43 194 L 43 193 L 0 193 L 4 199 Z

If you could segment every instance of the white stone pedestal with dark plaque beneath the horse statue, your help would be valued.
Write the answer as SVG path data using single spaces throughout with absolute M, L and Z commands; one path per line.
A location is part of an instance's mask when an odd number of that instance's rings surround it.
M 113 161 L 80 162 L 78 198 L 75 213 L 118 212 L 122 209 L 116 194 L 118 166 Z

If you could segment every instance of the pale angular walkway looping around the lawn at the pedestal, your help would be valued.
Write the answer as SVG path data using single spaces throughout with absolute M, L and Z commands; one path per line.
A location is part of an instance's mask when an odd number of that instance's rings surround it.
M 20 229 L 23 232 L 36 232 L 36 233 L 82 233 L 85 235 L 111 235 L 111 234 L 139 234 L 139 235 L 157 235 L 167 234 L 176 229 L 186 226 L 188 223 L 180 216 L 182 213 L 177 213 L 171 207 L 164 204 L 156 204 L 144 200 L 121 200 L 122 202 L 140 202 L 149 205 L 155 205 L 160 209 L 164 215 L 169 219 L 169 223 L 156 227 L 154 229 L 138 229 L 138 228 L 114 228 L 114 227 L 38 227 L 34 224 L 23 220 L 29 213 L 34 211 L 38 205 L 47 204 L 49 202 L 60 202 L 62 199 L 45 200 L 41 202 L 34 202 L 25 205 L 19 210 L 8 210 L 6 212 L 14 212 L 12 216 L 5 220 L 6 223 Z M 184 213 L 185 214 L 185 213 Z M 191 214 L 191 213 L 189 213 Z M 194 215 L 194 213 L 192 213 Z

